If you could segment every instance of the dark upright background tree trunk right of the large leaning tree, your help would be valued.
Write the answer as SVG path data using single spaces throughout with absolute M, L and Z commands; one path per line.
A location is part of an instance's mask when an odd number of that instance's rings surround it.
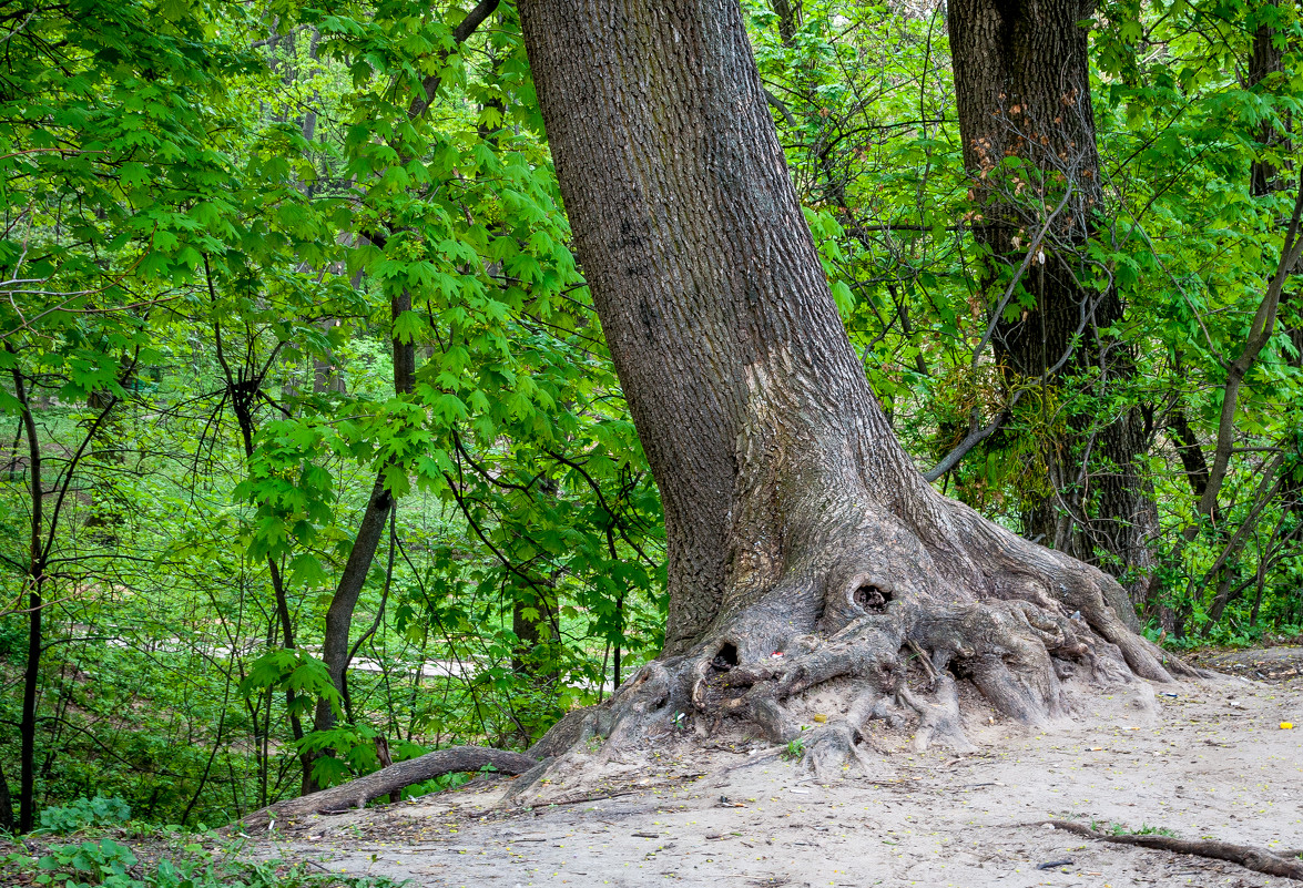
M 1084 246 L 1104 197 L 1079 25 L 1092 5 L 952 0 L 949 26 L 964 165 L 975 181 L 973 230 L 994 262 L 1023 267 L 1031 298 L 1020 310 L 997 297 L 995 358 L 1011 385 L 1057 389 L 1063 378 L 1095 370 L 1108 395 L 1135 368 L 1126 344 L 1098 332 L 1122 320 L 1117 290 L 1083 285 Z M 1005 276 L 989 283 L 1006 293 Z M 1102 427 L 1089 410 L 1070 410 L 1066 421 L 1044 448 L 1055 492 L 1028 497 L 1024 531 L 1079 559 L 1106 551 L 1105 566 L 1130 573 L 1132 598 L 1144 604 L 1158 512 L 1136 460 L 1147 448 L 1141 411 L 1127 408 Z

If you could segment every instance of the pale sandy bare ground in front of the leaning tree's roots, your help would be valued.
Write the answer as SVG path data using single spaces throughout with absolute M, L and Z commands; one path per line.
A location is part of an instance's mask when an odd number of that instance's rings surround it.
M 622 783 L 569 797 L 566 786 L 546 788 L 560 803 L 506 807 L 509 781 L 483 780 L 281 824 L 258 849 L 440 888 L 1283 888 L 1299 883 L 1027 824 L 1071 818 L 1303 846 L 1303 678 L 1293 672 L 1081 698 L 1078 719 L 1044 733 L 992 724 L 979 707 L 966 716 L 976 754 L 915 754 L 907 733 L 885 730 L 874 737 L 883 753 L 873 773 L 855 766 L 826 785 L 740 737 L 708 750 L 683 742 Z M 619 794 L 592 798 L 609 793 Z

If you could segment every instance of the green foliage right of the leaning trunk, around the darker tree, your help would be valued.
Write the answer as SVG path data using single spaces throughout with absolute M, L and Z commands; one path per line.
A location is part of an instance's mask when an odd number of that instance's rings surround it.
M 1114 286 L 1123 299 L 1123 322 L 1100 333 L 1124 342 L 1136 372 L 1130 382 L 1084 372 L 1046 387 L 1011 379 L 986 354 L 975 357 L 992 320 L 989 293 L 1003 288 L 1009 272 L 997 268 L 994 284 L 984 283 L 993 268 L 969 228 L 982 221 L 973 203 L 979 182 L 960 158 L 942 16 L 801 4 L 784 35 L 769 4 L 744 8 L 821 254 L 834 288 L 843 284 L 853 296 L 848 312 L 839 299 L 847 329 L 906 448 L 923 466 L 934 465 L 969 432 L 1001 419 L 999 432 L 941 484 L 1019 530 L 1029 505 L 1046 497 L 1072 503 L 1113 471 L 1096 456 L 1084 479 L 1057 477 L 1048 448 L 1068 431 L 1098 431 L 1135 410 L 1145 417 L 1144 482 L 1153 484 L 1162 525 L 1153 540 L 1157 582 L 1104 546 L 1096 560 L 1124 583 L 1148 586 L 1145 616 L 1165 642 L 1247 643 L 1296 631 L 1300 488 L 1296 478 L 1282 484 L 1265 508 L 1268 491 L 1252 491 L 1277 448 L 1296 449 L 1303 378 L 1290 331 L 1303 327 L 1293 296 L 1298 283 L 1287 285 L 1277 336 L 1240 393 L 1222 514 L 1216 525 L 1199 523 L 1192 542 L 1192 477 L 1170 426 L 1177 415 L 1188 419 L 1212 461 L 1226 367 L 1276 272 L 1295 187 L 1283 171 L 1303 99 L 1298 10 L 1121 0 L 1088 22 L 1106 206 L 1096 237 L 1076 257 L 1078 273 L 1096 289 Z M 1281 70 L 1246 82 L 1261 26 L 1274 29 Z M 1263 194 L 1251 190 L 1255 163 L 1277 171 Z M 1054 172 L 1018 158 L 989 171 L 982 187 L 997 180 L 1011 197 L 1053 198 Z M 1029 298 L 1015 288 L 1005 320 L 1016 322 L 1032 307 Z M 1296 465 L 1290 457 L 1281 477 L 1294 477 Z M 1248 542 L 1222 559 L 1240 527 L 1247 536 L 1239 539 Z M 1157 629 L 1160 615 L 1167 631 Z

